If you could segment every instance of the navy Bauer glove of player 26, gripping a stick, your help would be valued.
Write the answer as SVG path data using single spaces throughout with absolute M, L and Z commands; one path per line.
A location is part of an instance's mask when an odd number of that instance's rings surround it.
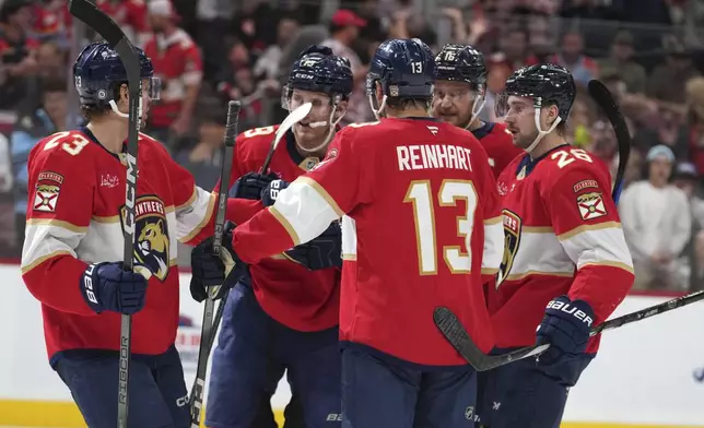
M 586 301 L 572 301 L 567 296 L 552 299 L 538 326 L 536 344 L 550 344 L 538 357 L 538 368 L 566 385 L 574 385 L 589 361 L 585 353 L 592 323 L 594 311 Z

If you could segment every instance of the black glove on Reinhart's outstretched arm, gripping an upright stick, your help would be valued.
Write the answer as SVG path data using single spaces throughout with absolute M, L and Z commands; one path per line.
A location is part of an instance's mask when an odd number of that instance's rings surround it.
M 213 237 L 200 242 L 190 253 L 191 278 L 190 295 L 193 300 L 201 302 L 210 297 L 213 300 L 222 298 L 242 278 L 249 276 L 249 269 L 232 249 L 233 223 L 225 223 L 223 245 L 220 257 L 213 251 Z

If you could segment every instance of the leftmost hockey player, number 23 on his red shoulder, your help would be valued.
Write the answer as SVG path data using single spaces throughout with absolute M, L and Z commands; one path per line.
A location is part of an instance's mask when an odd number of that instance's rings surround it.
M 143 51 L 142 120 L 157 90 Z M 117 420 L 120 314 L 133 314 L 130 428 L 188 427 L 178 325 L 176 240 L 200 239 L 215 198 L 164 147 L 139 134 L 134 272 L 122 270 L 128 135 L 127 73 L 106 43 L 89 45 L 73 74 L 87 126 L 42 140 L 28 158 L 22 275 L 42 302 L 51 367 L 91 428 Z M 212 227 L 211 227 L 212 229 Z M 212 231 L 211 231 L 212 234 Z

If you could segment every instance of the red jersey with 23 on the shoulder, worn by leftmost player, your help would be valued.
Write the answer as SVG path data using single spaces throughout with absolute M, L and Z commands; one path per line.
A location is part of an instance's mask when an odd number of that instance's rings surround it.
M 144 134 L 138 163 L 134 259 L 153 276 L 146 306 L 133 317 L 132 352 L 156 355 L 174 344 L 178 326 L 176 240 L 212 233 L 212 226 L 203 226 L 215 195 L 197 188 L 192 176 Z M 120 314 L 96 314 L 79 285 L 87 264 L 122 260 L 126 164 L 83 129 L 42 140 L 27 166 L 22 276 L 42 302 L 49 357 L 75 348 L 118 349 Z

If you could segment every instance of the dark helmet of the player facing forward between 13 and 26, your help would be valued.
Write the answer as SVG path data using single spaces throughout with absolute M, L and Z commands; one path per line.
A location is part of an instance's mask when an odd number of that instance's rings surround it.
M 486 84 L 484 55 L 470 45 L 447 44 L 435 57 L 437 80 L 467 82 L 473 88 Z

